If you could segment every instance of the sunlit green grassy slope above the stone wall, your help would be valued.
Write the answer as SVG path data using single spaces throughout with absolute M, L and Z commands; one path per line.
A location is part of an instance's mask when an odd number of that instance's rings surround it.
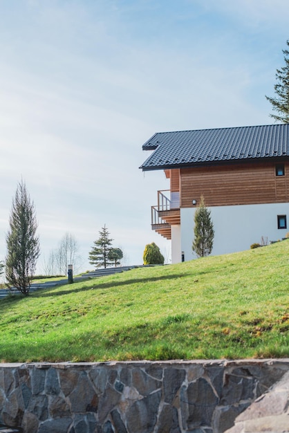
M 0 301 L 0 360 L 289 356 L 289 241 Z

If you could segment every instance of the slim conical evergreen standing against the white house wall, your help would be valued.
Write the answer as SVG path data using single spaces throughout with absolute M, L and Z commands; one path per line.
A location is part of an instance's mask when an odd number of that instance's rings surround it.
M 211 219 L 211 211 L 205 205 L 205 199 L 201 196 L 201 203 L 194 215 L 194 241 L 192 250 L 198 257 L 205 257 L 212 252 L 214 241 L 214 225 Z

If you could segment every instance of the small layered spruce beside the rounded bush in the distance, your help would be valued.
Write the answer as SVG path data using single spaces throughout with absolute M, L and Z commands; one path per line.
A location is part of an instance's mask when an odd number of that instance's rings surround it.
M 91 248 L 89 253 L 89 263 L 95 265 L 97 268 L 106 266 L 111 266 L 113 261 L 109 259 L 109 252 L 111 250 L 111 242 L 113 239 L 109 238 L 109 231 L 107 230 L 105 224 L 100 230 L 100 237 L 97 241 L 94 241 L 94 246 Z

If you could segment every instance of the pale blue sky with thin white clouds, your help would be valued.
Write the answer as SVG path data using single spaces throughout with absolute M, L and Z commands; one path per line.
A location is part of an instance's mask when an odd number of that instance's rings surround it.
M 142 264 L 162 171 L 156 132 L 269 125 L 288 0 L 0 0 L 0 260 L 17 183 L 35 205 L 42 273 L 64 234 L 81 270 L 106 225 Z

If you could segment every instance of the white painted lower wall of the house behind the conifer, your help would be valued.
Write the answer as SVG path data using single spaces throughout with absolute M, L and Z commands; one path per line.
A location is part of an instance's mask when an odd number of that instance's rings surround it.
M 263 205 L 217 206 L 209 208 L 214 223 L 212 255 L 249 250 L 261 237 L 277 241 L 289 232 L 289 203 Z M 192 251 L 196 208 L 180 209 L 180 249 L 185 261 L 196 258 Z M 287 229 L 278 229 L 277 215 L 287 215 Z M 180 261 L 180 259 L 179 259 Z

